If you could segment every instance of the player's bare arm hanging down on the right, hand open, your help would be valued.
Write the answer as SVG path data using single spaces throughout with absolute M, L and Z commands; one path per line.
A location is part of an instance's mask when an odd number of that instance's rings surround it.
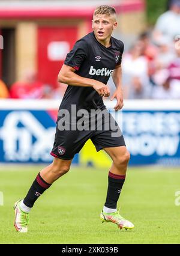
M 119 109 L 122 109 L 124 103 L 123 103 L 123 94 L 122 94 L 122 68 L 121 65 L 119 65 L 118 67 L 116 67 L 116 69 L 114 70 L 113 74 L 112 74 L 112 79 L 113 82 L 115 83 L 115 93 L 113 94 L 113 96 L 110 98 L 110 100 L 113 100 L 116 98 L 117 103 L 115 106 L 115 110 L 118 111 Z

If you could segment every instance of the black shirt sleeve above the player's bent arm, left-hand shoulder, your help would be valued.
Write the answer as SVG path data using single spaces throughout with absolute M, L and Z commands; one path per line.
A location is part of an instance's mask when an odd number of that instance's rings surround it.
M 88 43 L 81 39 L 74 44 L 73 49 L 67 54 L 64 64 L 79 70 L 82 62 L 88 56 Z

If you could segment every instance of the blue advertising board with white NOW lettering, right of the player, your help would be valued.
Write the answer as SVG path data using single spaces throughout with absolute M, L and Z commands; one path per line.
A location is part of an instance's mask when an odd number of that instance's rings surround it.
M 180 165 L 180 111 L 124 111 L 123 134 L 133 165 Z

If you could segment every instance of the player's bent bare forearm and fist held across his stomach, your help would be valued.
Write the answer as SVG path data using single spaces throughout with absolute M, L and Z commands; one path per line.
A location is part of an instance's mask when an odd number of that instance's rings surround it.
M 93 87 L 100 96 L 110 96 L 110 91 L 107 85 L 94 79 L 83 78 L 82 76 L 74 73 L 75 71 L 76 69 L 73 67 L 63 65 L 58 75 L 58 82 L 74 86 Z

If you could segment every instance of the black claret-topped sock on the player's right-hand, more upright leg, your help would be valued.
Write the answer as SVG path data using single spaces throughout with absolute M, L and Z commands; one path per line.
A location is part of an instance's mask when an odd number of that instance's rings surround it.
M 117 175 L 109 172 L 107 197 L 104 206 L 111 209 L 116 209 L 124 181 L 125 175 Z

